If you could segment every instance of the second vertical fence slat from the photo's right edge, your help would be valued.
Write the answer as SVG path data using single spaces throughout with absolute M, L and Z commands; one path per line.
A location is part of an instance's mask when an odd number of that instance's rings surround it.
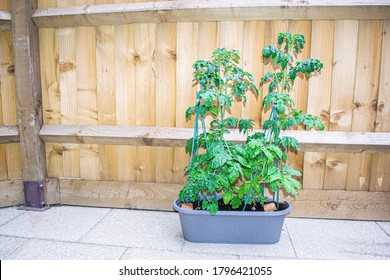
M 382 21 L 359 21 L 352 131 L 375 131 L 382 29 Z M 371 154 L 349 154 L 347 190 L 369 189 L 371 159 Z

